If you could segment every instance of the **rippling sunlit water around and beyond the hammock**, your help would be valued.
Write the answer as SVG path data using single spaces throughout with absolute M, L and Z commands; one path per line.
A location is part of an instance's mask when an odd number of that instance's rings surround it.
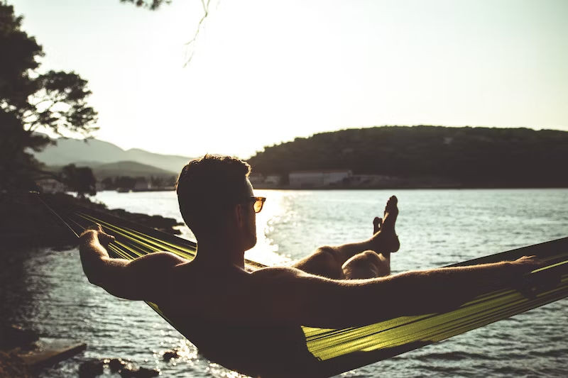
M 320 245 L 368 238 L 389 196 L 399 199 L 401 248 L 393 272 L 439 267 L 568 236 L 568 189 L 258 190 L 258 245 L 246 257 L 288 263 Z M 95 197 L 110 208 L 177 218 L 174 192 Z M 183 237 L 192 238 L 182 227 Z M 77 250 L 23 250 L 6 262 L 16 279 L 0 282 L 0 314 L 44 335 L 84 340 L 84 355 L 41 377 L 76 377 L 89 357 L 122 357 L 158 367 L 163 377 L 239 377 L 197 355 L 195 348 L 141 302 L 116 299 L 82 274 Z M 436 345 L 343 374 L 346 377 L 567 377 L 568 301 L 537 308 Z M 160 352 L 181 347 L 164 362 Z M 235 345 L 239 348 L 239 345 Z

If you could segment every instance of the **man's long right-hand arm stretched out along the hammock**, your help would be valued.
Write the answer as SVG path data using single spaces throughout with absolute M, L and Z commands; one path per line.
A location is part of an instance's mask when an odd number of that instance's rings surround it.
M 296 269 L 254 272 L 262 316 L 275 323 L 320 328 L 364 326 L 398 316 L 457 308 L 483 294 L 515 282 L 539 267 L 535 258 L 514 262 L 406 272 L 365 280 L 332 280 Z

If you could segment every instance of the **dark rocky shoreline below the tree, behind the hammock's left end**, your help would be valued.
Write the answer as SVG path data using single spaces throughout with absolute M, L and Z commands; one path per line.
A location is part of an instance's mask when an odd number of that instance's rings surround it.
M 104 211 L 127 221 L 155 228 L 173 235 L 180 234 L 182 226 L 173 218 L 129 213 L 122 209 L 107 209 L 89 199 L 77 199 L 69 194 L 42 194 L 50 204 L 78 204 Z M 0 194 L 0 240 L 5 248 L 51 247 L 65 248 L 77 245 L 77 238 L 39 199 L 38 194 Z

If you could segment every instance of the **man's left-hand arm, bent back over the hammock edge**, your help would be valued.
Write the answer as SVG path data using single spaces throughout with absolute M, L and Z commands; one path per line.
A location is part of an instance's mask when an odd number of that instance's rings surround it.
M 114 296 L 134 301 L 155 302 L 165 279 L 176 265 L 187 262 L 170 252 L 155 252 L 135 260 L 113 259 L 106 246 L 114 237 L 98 230 L 86 230 L 80 237 L 83 270 L 89 282 Z

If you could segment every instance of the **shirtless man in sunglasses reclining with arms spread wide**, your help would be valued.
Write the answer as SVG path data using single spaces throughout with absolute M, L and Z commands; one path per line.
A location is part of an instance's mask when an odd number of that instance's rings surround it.
M 523 257 L 390 275 L 399 248 L 393 196 L 368 240 L 318 248 L 293 267 L 247 272 L 244 252 L 256 244 L 255 213 L 265 201 L 254 196 L 249 171 L 246 162 L 211 155 L 182 169 L 180 211 L 198 245 L 191 262 L 169 252 L 111 259 L 105 247 L 113 237 L 100 226 L 80 242 L 89 282 L 157 304 L 204 357 L 243 374 L 314 377 L 317 360 L 300 326 L 346 328 L 445 311 L 538 265 Z

